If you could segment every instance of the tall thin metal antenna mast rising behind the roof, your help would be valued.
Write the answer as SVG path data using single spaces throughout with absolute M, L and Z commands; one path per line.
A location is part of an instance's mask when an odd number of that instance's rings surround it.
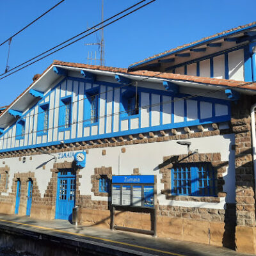
M 104 0 L 102 0 L 101 4 L 101 21 L 104 21 Z M 100 66 L 105 65 L 105 42 L 104 42 L 104 28 L 103 28 L 103 23 L 101 25 L 100 29 L 100 40 L 98 36 L 96 35 L 97 43 L 90 43 L 90 44 L 85 44 L 85 45 L 98 45 L 98 51 L 100 53 L 100 58 L 97 58 L 97 51 L 95 51 L 95 56 L 93 56 L 93 52 L 88 52 L 87 56 L 87 63 L 91 65 L 97 65 L 97 61 L 100 62 Z

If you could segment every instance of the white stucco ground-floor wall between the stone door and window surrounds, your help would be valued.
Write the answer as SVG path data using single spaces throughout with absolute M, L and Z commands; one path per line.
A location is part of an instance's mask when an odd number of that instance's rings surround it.
M 158 165 L 163 163 L 164 156 L 187 154 L 186 146 L 178 145 L 177 141 L 165 141 L 161 143 L 147 143 L 127 145 L 126 152 L 122 153 L 122 147 L 108 147 L 106 156 L 102 156 L 102 148 L 92 148 L 86 156 L 86 167 L 81 170 L 82 178 L 79 180 L 81 186 L 79 190 L 81 195 L 91 195 L 92 200 L 108 200 L 106 197 L 94 196 L 92 193 L 91 175 L 94 174 L 94 168 L 106 166 L 112 167 L 113 175 L 131 175 L 133 168 L 139 168 L 141 175 L 157 175 L 157 199 L 161 205 L 178 205 L 187 207 L 205 207 L 223 209 L 225 202 L 235 202 L 235 152 L 231 150 L 234 144 L 234 134 L 223 136 L 212 136 L 205 138 L 194 138 L 191 140 L 191 150 L 198 149 L 198 153 L 217 153 L 221 154 L 221 161 L 228 161 L 227 172 L 223 174 L 225 185 L 223 191 L 227 192 L 226 198 L 221 198 L 220 203 L 203 203 L 203 202 L 184 202 L 175 200 L 166 200 L 165 195 L 161 195 L 161 189 L 164 189 L 160 180 L 162 174 L 159 173 Z M 58 154 L 55 154 L 58 157 Z M 57 159 L 58 163 L 72 161 L 71 158 Z M 5 162 L 3 164 L 3 161 Z M 42 166 L 46 165 L 45 170 Z M 44 196 L 48 182 L 51 179 L 51 168 L 53 168 L 54 159 L 49 155 L 33 156 L 32 160 L 26 157 L 26 162 L 22 163 L 19 158 L 1 159 L 0 167 L 5 165 L 10 167 L 10 183 L 8 193 L 11 192 L 13 175 L 17 172 L 35 172 L 41 196 Z

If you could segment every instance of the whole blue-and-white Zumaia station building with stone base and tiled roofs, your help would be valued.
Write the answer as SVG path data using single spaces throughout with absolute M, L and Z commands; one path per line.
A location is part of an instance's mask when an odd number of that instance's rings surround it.
M 128 68 L 54 61 L 0 109 L 0 213 L 77 206 L 81 225 L 256 253 L 255 40 L 253 22 Z

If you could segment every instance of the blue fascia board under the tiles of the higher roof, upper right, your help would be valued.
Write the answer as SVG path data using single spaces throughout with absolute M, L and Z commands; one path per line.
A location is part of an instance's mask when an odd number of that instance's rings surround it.
M 190 44 L 187 47 L 182 47 L 181 49 L 177 49 L 176 51 L 168 52 L 166 54 L 161 54 L 160 56 L 157 56 L 155 58 L 150 58 L 150 60 L 141 61 L 140 63 L 130 65 L 129 69 L 141 66 L 141 65 L 143 65 L 143 64 L 145 64 L 149 61 L 158 60 L 159 58 L 164 58 L 166 56 L 170 56 L 172 54 L 175 54 L 175 53 L 180 52 L 180 51 L 184 51 L 186 49 L 191 49 L 191 48 L 199 47 L 200 45 L 205 45 L 207 42 L 214 42 L 214 40 L 220 40 L 221 38 L 227 38 L 228 36 L 234 36 L 234 35 L 237 35 L 237 34 L 243 32 L 243 31 L 249 31 L 250 29 L 253 29 L 253 28 L 256 28 L 256 24 L 253 24 L 252 26 L 248 26 L 246 28 L 237 29 L 236 31 L 230 31 L 228 33 L 223 33 L 221 35 L 217 35 L 217 36 L 214 36 L 212 38 L 207 38 L 207 39 L 202 40 L 200 42 Z

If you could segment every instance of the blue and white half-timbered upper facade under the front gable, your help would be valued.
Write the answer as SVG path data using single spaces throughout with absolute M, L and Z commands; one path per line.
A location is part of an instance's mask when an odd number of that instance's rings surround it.
M 64 70 L 53 67 L 57 68 Z M 118 83 L 115 78 L 120 74 L 111 74 L 112 82 L 79 75 L 61 77 L 45 93 L 29 89 L 27 93 L 37 102 L 23 113 L 10 109 L 4 114 L 15 122 L 0 136 L 0 152 L 230 120 L 230 100 L 225 93 L 219 98 L 191 97 L 186 88 L 179 91 L 177 84 L 171 84 L 176 91 L 168 91 L 163 79 L 139 83 L 136 88 L 131 79 L 127 85 Z M 135 81 L 141 79 L 136 76 Z

